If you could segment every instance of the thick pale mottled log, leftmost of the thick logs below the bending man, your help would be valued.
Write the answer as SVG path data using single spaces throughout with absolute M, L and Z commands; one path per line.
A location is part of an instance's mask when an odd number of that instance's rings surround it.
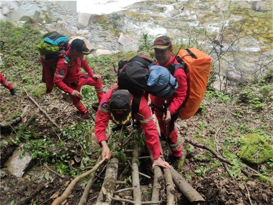
M 102 189 L 100 190 L 99 197 L 97 199 L 97 205 L 110 205 L 112 202 L 112 197 L 114 195 L 116 189 L 117 180 L 117 173 L 118 173 L 118 159 L 113 158 L 111 159 L 106 168 L 105 177 L 102 184 Z M 103 190 L 103 188 L 105 190 Z

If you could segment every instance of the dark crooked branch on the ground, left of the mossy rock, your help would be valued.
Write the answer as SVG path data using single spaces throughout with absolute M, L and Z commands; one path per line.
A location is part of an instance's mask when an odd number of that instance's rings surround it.
M 198 143 L 196 142 L 195 140 L 192 140 L 192 139 L 189 139 L 188 137 L 184 137 L 184 139 L 190 143 L 191 145 L 195 146 L 195 147 L 199 147 L 199 148 L 202 148 L 202 149 L 205 149 L 205 150 L 208 150 L 210 151 L 217 159 L 219 159 L 220 161 L 222 162 L 225 162 L 229 165 L 232 166 L 232 163 L 230 162 L 230 160 L 222 157 L 220 154 L 218 154 L 215 150 L 213 150 L 211 147 L 207 146 L 207 145 L 204 145 L 204 144 L 201 144 L 201 143 Z M 247 177 L 251 176 L 251 173 L 248 172 L 247 170 L 241 168 L 241 172 L 246 175 Z

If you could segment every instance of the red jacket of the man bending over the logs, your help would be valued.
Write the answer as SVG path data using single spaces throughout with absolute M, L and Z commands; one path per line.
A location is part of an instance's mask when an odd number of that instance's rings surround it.
M 109 101 L 113 90 L 117 87 L 118 86 L 116 85 L 115 87 L 112 87 L 110 90 L 108 90 L 108 92 L 103 95 L 103 98 L 100 101 L 94 129 L 98 143 L 100 143 L 102 140 L 107 141 L 105 129 L 107 128 L 110 119 Z M 143 127 L 147 148 L 151 151 L 153 158 L 158 159 L 161 154 L 158 132 L 155 126 L 155 122 L 153 121 L 150 107 L 148 106 L 148 99 L 144 96 L 141 98 L 139 112 L 138 114 L 135 114 L 135 119 L 139 120 L 141 126 Z

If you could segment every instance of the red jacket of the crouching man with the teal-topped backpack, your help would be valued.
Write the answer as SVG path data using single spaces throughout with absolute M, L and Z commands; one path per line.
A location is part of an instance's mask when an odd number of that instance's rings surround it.
M 82 75 L 81 67 L 84 68 L 90 77 L 92 77 L 94 73 L 84 57 L 73 58 L 69 54 L 69 51 L 70 49 L 65 53 L 71 60 L 71 67 L 68 68 L 69 63 L 65 58 L 60 58 L 57 62 L 57 68 L 54 74 L 54 84 L 64 92 L 71 94 L 73 89 L 67 86 L 65 83 L 78 82 L 80 76 Z

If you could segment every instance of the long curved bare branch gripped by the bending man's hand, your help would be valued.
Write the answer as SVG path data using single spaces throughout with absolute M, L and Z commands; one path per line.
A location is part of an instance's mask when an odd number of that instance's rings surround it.
M 123 127 L 123 126 L 122 126 L 122 127 Z M 122 133 L 122 132 L 120 132 L 120 136 L 121 136 L 121 133 Z M 118 138 L 118 142 L 115 144 L 114 148 L 110 151 L 110 154 L 115 150 L 115 148 L 117 148 L 117 146 L 118 146 L 118 144 L 119 144 L 119 142 L 120 142 L 120 136 L 119 136 L 119 138 Z M 100 160 L 100 162 L 97 163 L 97 164 L 94 166 L 94 168 L 92 168 L 91 170 L 89 170 L 89 171 L 87 171 L 87 172 L 85 172 L 85 173 L 79 175 L 79 176 L 76 177 L 75 179 L 73 179 L 73 180 L 70 182 L 69 186 L 66 188 L 66 190 L 64 190 L 63 194 L 62 194 L 60 197 L 56 198 L 56 199 L 53 201 L 53 203 L 52 203 L 51 205 L 60 205 L 61 203 L 63 203 L 63 201 L 66 200 L 66 198 L 70 195 L 70 193 L 71 193 L 72 189 L 74 188 L 74 186 L 76 185 L 76 183 L 77 183 L 79 180 L 81 180 L 82 178 L 84 178 L 84 177 L 88 176 L 89 174 L 95 172 L 95 171 L 99 168 L 99 166 L 102 165 L 102 163 L 103 163 L 105 160 L 106 160 L 106 157 L 104 157 L 102 160 Z

